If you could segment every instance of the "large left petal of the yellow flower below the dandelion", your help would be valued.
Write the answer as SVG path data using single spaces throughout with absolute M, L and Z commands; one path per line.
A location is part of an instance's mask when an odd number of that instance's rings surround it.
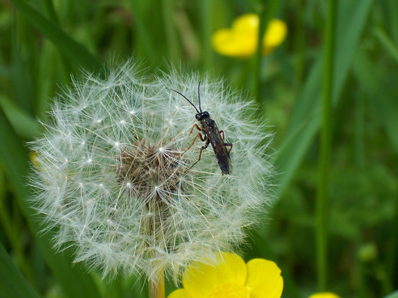
M 184 272 L 183 286 L 192 298 L 206 298 L 225 283 L 244 286 L 246 277 L 245 262 L 235 254 L 223 252 L 215 265 L 191 263 Z

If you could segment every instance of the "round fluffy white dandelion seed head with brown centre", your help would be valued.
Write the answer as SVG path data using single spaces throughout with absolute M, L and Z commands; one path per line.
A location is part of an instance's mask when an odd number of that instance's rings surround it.
M 182 74 L 181 74 L 182 73 Z M 233 171 L 222 175 L 211 146 L 195 135 L 208 111 L 233 144 Z M 256 108 L 222 80 L 171 70 L 152 81 L 130 61 L 106 79 L 74 79 L 51 109 L 31 176 L 45 227 L 57 248 L 103 276 L 159 270 L 178 280 L 191 261 L 233 251 L 271 202 L 265 153 L 270 134 Z M 187 150 L 188 149 L 188 150 Z

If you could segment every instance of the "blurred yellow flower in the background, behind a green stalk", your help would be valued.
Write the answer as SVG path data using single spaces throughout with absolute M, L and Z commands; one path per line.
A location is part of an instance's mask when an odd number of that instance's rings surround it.
M 213 48 L 225 56 L 247 58 L 257 49 L 257 35 L 260 20 L 254 13 L 244 14 L 232 23 L 232 27 L 217 30 L 212 36 Z M 271 53 L 285 39 L 286 24 L 278 19 L 271 20 L 263 38 L 262 54 Z

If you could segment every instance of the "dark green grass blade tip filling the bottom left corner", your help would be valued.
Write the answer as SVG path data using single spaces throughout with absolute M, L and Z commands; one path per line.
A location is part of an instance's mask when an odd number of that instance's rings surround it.
M 0 298 L 38 298 L 0 243 Z

